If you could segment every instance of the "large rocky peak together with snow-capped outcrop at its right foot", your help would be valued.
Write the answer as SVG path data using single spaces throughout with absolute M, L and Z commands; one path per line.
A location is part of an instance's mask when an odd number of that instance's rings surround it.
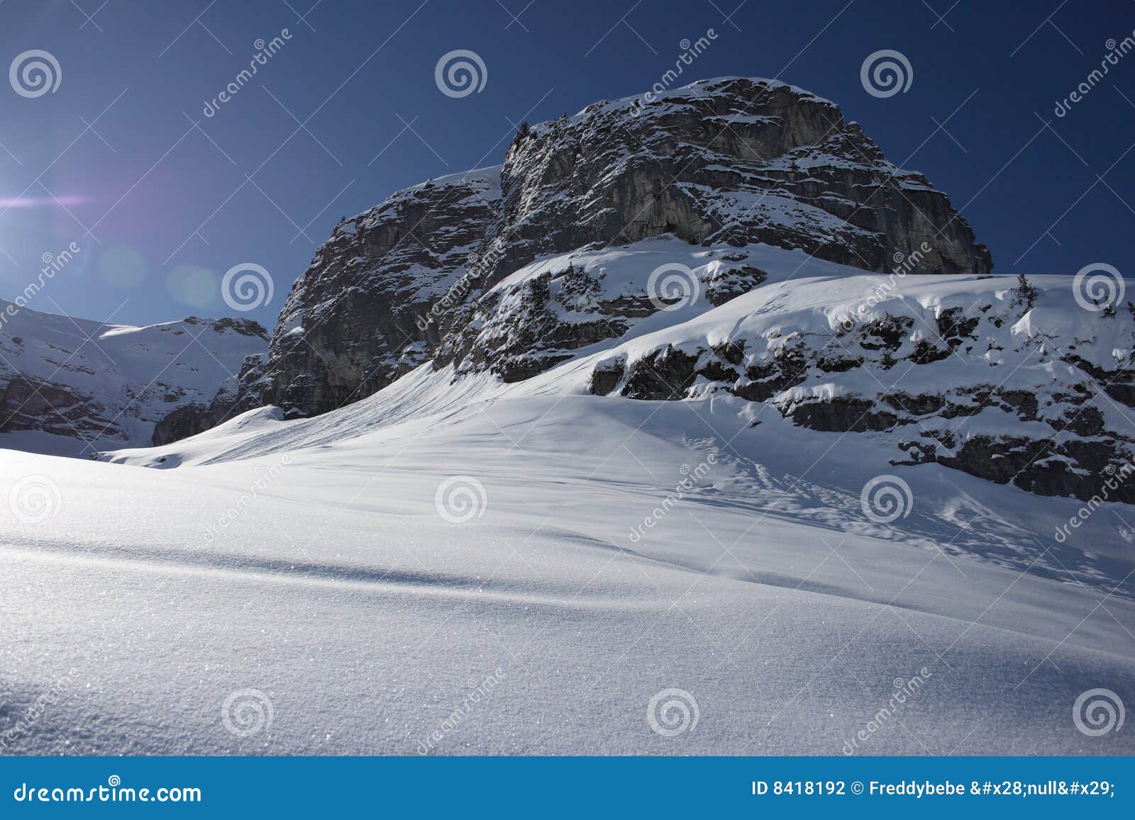
M 1088 499 L 1133 454 L 1132 316 L 991 269 L 833 103 L 703 81 L 526 126 L 502 167 L 340 222 L 245 388 L 311 415 L 423 362 L 514 382 L 594 357 L 598 395 L 725 391 L 894 464 Z

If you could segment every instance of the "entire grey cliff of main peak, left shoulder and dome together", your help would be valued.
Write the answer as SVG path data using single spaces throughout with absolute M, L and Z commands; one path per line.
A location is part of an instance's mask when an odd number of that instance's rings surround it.
M 800 248 L 871 271 L 919 247 L 916 272 L 992 268 L 949 200 L 889 163 L 833 103 L 773 81 L 704 81 L 644 108 L 602 102 L 526 129 L 502 168 L 400 192 L 338 226 L 288 298 L 258 389 L 314 414 L 430 358 L 526 378 L 564 345 L 617 336 L 623 311 L 656 307 L 631 295 L 587 328 L 527 316 L 539 327 L 499 349 L 481 326 L 501 305 L 479 299 L 539 256 L 664 234 Z M 718 294 L 758 280 L 740 273 Z

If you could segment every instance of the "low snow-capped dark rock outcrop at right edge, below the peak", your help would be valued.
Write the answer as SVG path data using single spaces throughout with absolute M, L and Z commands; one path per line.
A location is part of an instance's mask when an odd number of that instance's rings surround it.
M 1076 306 L 1065 277 L 1037 277 L 1036 304 L 1012 279 L 928 281 L 885 295 L 859 276 L 766 286 L 703 320 L 728 339 L 678 327 L 665 343 L 628 343 L 594 366 L 590 390 L 729 394 L 758 405 L 754 419 L 767 407 L 817 432 L 871 436 L 896 465 L 1135 502 L 1135 484 L 1115 480 L 1135 464 L 1129 405 L 1115 390 L 1135 371 L 1133 312 Z M 864 298 L 869 310 L 856 310 Z

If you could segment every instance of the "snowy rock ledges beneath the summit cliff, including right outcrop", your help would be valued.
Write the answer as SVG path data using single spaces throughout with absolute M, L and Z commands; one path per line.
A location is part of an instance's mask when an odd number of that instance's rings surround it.
M 646 302 L 658 270 L 684 286 L 679 301 L 613 315 Z M 798 251 L 644 240 L 544 259 L 498 284 L 464 330 L 456 373 L 543 349 L 541 366 L 586 362 L 596 395 L 735 396 L 753 424 L 776 414 L 864 434 L 892 465 L 1107 498 L 1135 455 L 1135 319 L 1076 306 L 1067 277 L 1028 282 L 1026 297 L 1003 277 L 888 278 Z M 1135 490 L 1110 497 L 1135 501 Z

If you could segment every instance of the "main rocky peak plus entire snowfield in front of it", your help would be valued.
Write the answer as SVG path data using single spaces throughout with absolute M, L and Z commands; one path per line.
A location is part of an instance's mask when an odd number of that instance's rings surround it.
M 991 270 L 799 88 L 524 127 L 3 455 L 0 752 L 1129 754 L 1135 318 Z

